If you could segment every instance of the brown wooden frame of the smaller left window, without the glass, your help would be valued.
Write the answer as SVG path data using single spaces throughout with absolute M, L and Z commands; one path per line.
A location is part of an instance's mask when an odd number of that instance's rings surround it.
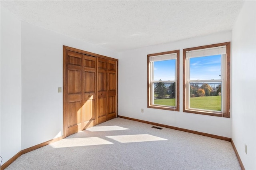
M 151 66 L 150 66 L 150 57 L 152 56 L 157 56 L 157 55 L 165 55 L 165 54 L 172 54 L 172 53 L 177 53 L 177 61 L 176 61 L 176 80 L 175 80 L 175 87 L 176 87 L 176 106 L 163 106 L 163 105 L 152 105 L 151 104 L 151 94 L 152 94 L 152 74 L 151 74 Z M 173 50 L 173 51 L 166 51 L 166 52 L 161 52 L 161 53 L 153 53 L 153 54 L 148 54 L 147 55 L 147 60 L 148 60 L 148 108 L 154 108 L 154 109 L 164 109 L 164 110 L 169 110 L 169 111 L 180 111 L 180 50 Z M 157 81 L 154 81 L 157 82 Z M 165 81 L 161 81 L 165 82 Z M 170 81 L 171 82 L 171 81 Z M 172 81 L 173 82 L 173 81 Z

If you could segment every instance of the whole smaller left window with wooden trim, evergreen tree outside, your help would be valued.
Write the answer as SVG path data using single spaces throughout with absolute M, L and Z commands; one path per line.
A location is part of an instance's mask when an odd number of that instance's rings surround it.
M 148 55 L 148 107 L 179 111 L 179 54 Z

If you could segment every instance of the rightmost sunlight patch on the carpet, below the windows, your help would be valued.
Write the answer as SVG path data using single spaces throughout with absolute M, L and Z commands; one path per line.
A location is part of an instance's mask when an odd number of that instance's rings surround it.
M 113 140 L 116 140 L 121 143 L 130 143 L 130 142 L 148 142 L 148 141 L 157 141 L 157 140 L 167 140 L 150 134 L 133 134 L 133 135 L 120 135 L 120 136 L 106 136 Z

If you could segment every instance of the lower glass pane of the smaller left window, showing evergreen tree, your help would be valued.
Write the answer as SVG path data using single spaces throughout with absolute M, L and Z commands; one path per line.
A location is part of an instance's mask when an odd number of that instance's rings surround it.
M 175 106 L 175 82 L 153 83 L 154 105 Z

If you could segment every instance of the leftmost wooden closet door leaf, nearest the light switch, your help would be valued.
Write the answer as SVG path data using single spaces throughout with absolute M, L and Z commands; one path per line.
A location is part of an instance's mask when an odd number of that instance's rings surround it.
M 65 56 L 65 111 L 64 131 L 66 135 L 76 133 L 81 127 L 82 107 L 82 54 L 66 51 Z

